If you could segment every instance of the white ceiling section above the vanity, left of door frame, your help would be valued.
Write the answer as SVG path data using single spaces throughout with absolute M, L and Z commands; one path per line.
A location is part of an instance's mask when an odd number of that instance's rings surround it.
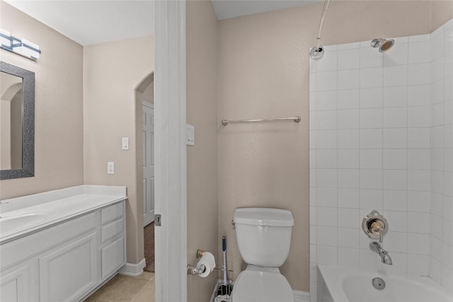
M 80 45 L 154 33 L 154 1 L 5 1 Z

